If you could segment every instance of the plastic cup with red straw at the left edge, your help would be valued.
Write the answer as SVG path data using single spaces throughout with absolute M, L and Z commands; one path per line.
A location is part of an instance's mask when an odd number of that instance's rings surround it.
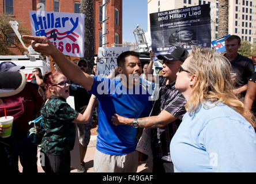
M 0 117 L 0 127 L 3 129 L 3 133 L 0 134 L 2 138 L 10 137 L 13 127 L 13 116 Z

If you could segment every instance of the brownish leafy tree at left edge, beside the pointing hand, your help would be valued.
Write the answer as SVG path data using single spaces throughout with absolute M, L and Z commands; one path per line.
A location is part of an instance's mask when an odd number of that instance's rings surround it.
M 0 55 L 14 55 L 12 49 L 17 48 L 23 54 L 25 48 L 22 47 L 20 40 L 14 33 L 9 21 L 15 21 L 9 14 L 0 13 Z M 20 34 L 31 34 L 27 28 L 22 28 L 22 22 L 16 20 L 19 24 L 18 31 Z M 29 43 L 29 40 L 23 40 Z M 12 46 L 12 47 L 11 47 Z

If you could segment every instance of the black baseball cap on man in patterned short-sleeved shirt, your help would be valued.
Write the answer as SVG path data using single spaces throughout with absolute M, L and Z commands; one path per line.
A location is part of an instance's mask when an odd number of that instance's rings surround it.
M 166 54 L 158 55 L 157 58 L 160 60 L 168 60 L 168 61 L 180 60 L 184 62 L 188 54 L 189 52 L 185 48 L 171 47 Z

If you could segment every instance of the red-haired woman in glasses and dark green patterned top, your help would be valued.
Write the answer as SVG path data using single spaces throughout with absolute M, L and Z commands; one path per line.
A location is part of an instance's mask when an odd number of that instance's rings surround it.
M 66 102 L 69 81 L 60 72 L 44 75 L 46 104 L 41 109 L 46 133 L 42 140 L 42 167 L 46 173 L 70 173 L 70 151 L 73 150 L 76 126 L 90 122 L 96 97 L 92 95 L 83 114 Z

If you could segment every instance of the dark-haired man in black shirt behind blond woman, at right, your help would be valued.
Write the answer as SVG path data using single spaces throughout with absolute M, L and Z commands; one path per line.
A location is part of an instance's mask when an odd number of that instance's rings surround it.
M 225 57 L 229 60 L 232 66 L 232 74 L 235 77 L 235 94 L 240 94 L 240 99 L 243 101 L 247 90 L 247 82 L 251 75 L 254 74 L 253 60 L 248 57 L 239 55 L 238 49 L 241 46 L 239 36 L 231 35 L 225 40 L 226 52 Z

